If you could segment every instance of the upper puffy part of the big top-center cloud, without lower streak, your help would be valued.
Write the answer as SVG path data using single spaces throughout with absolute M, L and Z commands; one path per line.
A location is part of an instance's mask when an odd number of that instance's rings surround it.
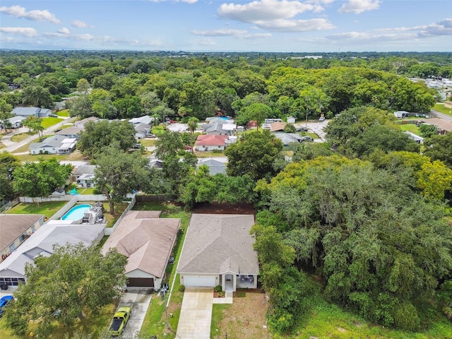
M 221 18 L 237 20 L 242 23 L 256 23 L 256 21 L 263 20 L 293 18 L 305 11 L 319 10 L 319 6 L 299 1 L 258 0 L 244 5 L 222 4 L 218 8 L 218 15 Z

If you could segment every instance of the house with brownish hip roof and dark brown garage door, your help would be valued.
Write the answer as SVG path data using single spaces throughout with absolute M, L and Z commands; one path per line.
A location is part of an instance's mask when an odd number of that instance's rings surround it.
M 162 285 L 181 220 L 159 218 L 160 213 L 130 210 L 102 246 L 103 253 L 116 248 L 127 257 L 128 286 L 158 289 Z

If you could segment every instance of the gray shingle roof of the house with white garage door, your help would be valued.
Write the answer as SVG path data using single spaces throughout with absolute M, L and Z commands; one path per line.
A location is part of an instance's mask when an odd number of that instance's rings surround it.
M 258 274 L 254 215 L 192 214 L 178 273 Z

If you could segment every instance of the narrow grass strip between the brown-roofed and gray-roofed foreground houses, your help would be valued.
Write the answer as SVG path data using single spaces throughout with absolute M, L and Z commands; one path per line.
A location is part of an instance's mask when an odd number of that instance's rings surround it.
M 180 311 L 182 307 L 182 299 L 184 293 L 179 292 L 179 277 L 174 280 L 176 274 L 177 263 L 182 252 L 182 244 L 184 244 L 185 234 L 189 226 L 190 213 L 186 212 L 182 207 L 175 206 L 173 203 L 136 203 L 133 210 L 162 210 L 160 218 L 181 218 L 181 230 L 177 236 L 176 244 L 174 244 L 174 264 L 168 265 L 165 272 L 165 282 L 172 287 L 172 295 L 167 309 L 169 328 L 166 326 L 165 303 L 161 297 L 157 295 L 151 299 L 148 313 L 145 316 L 143 326 L 141 326 L 141 335 L 157 335 L 157 338 L 175 338 L 177 323 L 179 322 Z M 169 314 L 173 314 L 172 317 Z

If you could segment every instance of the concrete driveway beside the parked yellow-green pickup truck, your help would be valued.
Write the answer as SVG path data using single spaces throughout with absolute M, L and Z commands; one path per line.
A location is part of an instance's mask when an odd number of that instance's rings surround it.
M 149 288 L 128 287 L 127 292 L 122 295 L 118 307 L 129 306 L 132 308 L 132 311 L 121 338 L 138 338 L 146 311 L 148 311 L 151 297 L 150 292 L 151 290 Z

